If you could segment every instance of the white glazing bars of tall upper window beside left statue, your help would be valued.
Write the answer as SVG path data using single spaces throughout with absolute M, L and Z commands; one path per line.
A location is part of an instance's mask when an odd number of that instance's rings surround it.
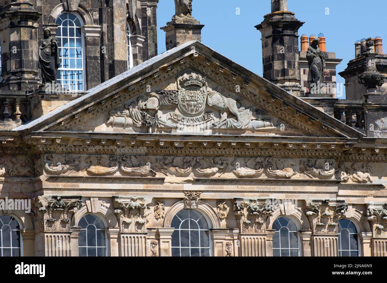
M 71 87 L 71 86 L 65 86 L 64 88 L 66 89 L 65 90 L 65 92 L 68 92 L 68 93 L 84 93 L 84 92 L 86 92 L 86 70 L 85 70 L 85 65 L 86 65 L 86 61 L 85 61 L 85 58 L 86 58 L 86 48 L 85 48 L 85 37 L 84 37 L 84 34 L 83 34 L 83 29 L 82 29 L 82 27 L 84 26 L 84 21 L 82 20 L 82 18 L 77 14 L 77 13 L 75 13 L 75 12 L 66 12 L 66 11 L 62 11 L 62 13 L 60 13 L 59 15 L 58 15 L 58 17 L 57 17 L 57 19 L 60 17 L 60 16 L 62 16 L 62 15 L 64 15 L 64 14 L 72 14 L 72 15 L 75 15 L 75 17 L 77 17 L 77 19 L 79 20 L 79 22 L 80 22 L 80 37 L 81 37 L 81 49 L 82 49 L 82 58 L 80 58 L 80 59 L 82 59 L 81 60 L 81 62 L 82 62 L 82 68 L 81 69 L 79 69 L 79 68 L 70 68 L 70 66 L 69 66 L 69 68 L 62 68 L 62 67 L 59 67 L 58 68 L 58 72 L 60 73 L 60 71 L 82 71 L 82 90 L 80 91 L 80 90 L 78 90 L 78 89 L 68 89 L 69 87 Z M 68 16 L 67 16 L 68 17 Z M 57 21 L 57 19 L 55 19 L 55 21 Z M 70 20 L 70 19 L 68 19 L 69 21 L 72 21 L 72 20 Z M 62 21 L 62 24 L 63 24 L 63 21 Z M 60 26 L 58 26 L 58 29 L 59 28 L 61 28 L 62 27 L 62 24 L 60 25 Z M 76 28 L 77 26 L 75 26 L 75 28 Z M 67 27 L 68 28 L 68 27 Z M 63 36 L 62 36 L 62 33 L 61 33 L 61 36 L 57 36 L 57 38 L 63 38 Z M 73 37 L 70 37 L 69 36 L 69 32 L 67 31 L 67 39 L 70 39 L 70 38 L 73 38 Z M 75 37 L 75 33 L 74 33 L 74 38 L 73 39 L 75 39 L 76 37 Z M 68 41 L 69 42 L 69 41 Z M 58 46 L 58 47 L 60 47 L 60 48 L 63 48 L 63 46 Z M 60 60 L 61 60 L 61 63 L 62 63 L 62 57 L 61 57 L 61 52 L 60 52 L 60 48 L 59 48 L 59 58 L 60 58 Z M 69 49 L 69 48 L 68 48 Z M 75 50 L 77 49 L 77 47 L 75 46 Z M 69 49 L 69 51 L 70 51 L 70 49 Z M 70 52 L 69 52 L 70 53 Z M 65 57 L 64 57 L 65 58 Z M 67 58 L 68 59 L 68 58 Z M 79 59 L 79 58 L 77 58 L 77 59 Z M 74 60 L 77 60 L 77 59 L 74 59 Z M 70 60 L 70 59 L 68 59 L 68 60 Z M 70 63 L 70 61 L 69 61 L 69 63 Z M 75 64 L 76 64 L 76 61 L 75 61 Z M 63 76 L 61 77 L 61 82 L 63 81 Z M 73 80 L 70 80 L 70 79 L 65 79 L 65 81 L 73 81 Z M 75 81 L 77 81 L 76 79 L 75 79 Z M 62 84 L 61 84 L 62 85 Z M 62 87 L 63 87 L 63 85 L 62 85 Z

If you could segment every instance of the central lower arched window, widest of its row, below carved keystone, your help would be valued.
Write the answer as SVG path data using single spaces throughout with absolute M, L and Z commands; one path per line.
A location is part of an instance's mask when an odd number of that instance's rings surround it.
M 209 227 L 196 210 L 183 209 L 172 219 L 172 256 L 210 256 Z

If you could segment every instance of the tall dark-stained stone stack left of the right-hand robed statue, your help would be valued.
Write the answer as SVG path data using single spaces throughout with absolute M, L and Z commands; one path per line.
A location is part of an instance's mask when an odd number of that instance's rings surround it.
M 298 29 L 304 24 L 288 11 L 287 0 L 272 0 L 272 12 L 255 26 L 262 33 L 264 78 L 303 96 L 299 68 Z M 305 47 L 305 46 L 304 46 Z

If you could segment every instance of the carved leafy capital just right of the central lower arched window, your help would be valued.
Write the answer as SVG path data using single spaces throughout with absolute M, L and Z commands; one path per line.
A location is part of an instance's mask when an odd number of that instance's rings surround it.
M 273 204 L 235 199 L 234 213 L 242 234 L 265 233 L 265 222 L 267 217 L 273 213 Z

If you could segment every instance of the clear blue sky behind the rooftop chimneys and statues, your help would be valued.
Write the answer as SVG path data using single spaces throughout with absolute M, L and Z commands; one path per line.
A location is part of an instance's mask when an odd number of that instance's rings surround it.
M 343 59 L 337 72 L 344 70 L 354 58 L 354 43 L 358 39 L 380 36 L 387 53 L 386 7 L 386 0 L 288 0 L 288 10 L 305 22 L 299 35 L 324 33 L 327 51 L 336 52 L 336 58 Z M 236 15 L 236 8 L 240 8 L 240 15 Z M 193 16 L 205 25 L 202 42 L 259 75 L 262 75 L 261 34 L 254 26 L 270 12 L 271 0 L 193 1 Z M 174 14 L 174 1 L 160 0 L 158 29 Z M 158 52 L 164 51 L 165 33 L 159 29 Z M 344 79 L 337 75 L 337 82 L 344 83 Z

